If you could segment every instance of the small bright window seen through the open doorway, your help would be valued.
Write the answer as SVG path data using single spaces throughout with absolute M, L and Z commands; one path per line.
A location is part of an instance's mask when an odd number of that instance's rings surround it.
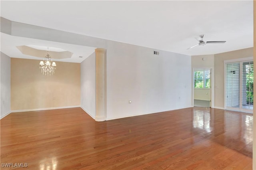
M 210 69 L 194 70 L 194 88 L 210 88 Z

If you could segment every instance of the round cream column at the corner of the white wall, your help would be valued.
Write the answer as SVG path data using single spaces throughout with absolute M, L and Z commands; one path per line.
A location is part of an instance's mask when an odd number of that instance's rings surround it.
M 96 115 L 95 121 L 106 121 L 106 49 L 95 49 L 96 58 Z

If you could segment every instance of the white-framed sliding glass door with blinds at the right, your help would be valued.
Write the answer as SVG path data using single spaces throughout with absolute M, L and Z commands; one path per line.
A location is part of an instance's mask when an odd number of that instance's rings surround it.
M 253 61 L 226 63 L 225 95 L 226 109 L 252 113 Z

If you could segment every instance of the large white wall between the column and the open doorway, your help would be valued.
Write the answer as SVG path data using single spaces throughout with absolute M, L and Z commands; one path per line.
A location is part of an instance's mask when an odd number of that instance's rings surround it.
M 107 120 L 192 107 L 191 57 L 153 51 L 107 44 Z

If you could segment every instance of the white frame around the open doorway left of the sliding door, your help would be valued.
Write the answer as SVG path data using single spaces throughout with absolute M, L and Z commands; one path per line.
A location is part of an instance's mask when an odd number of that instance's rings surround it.
M 192 106 L 194 107 L 194 70 L 197 69 L 210 69 L 210 80 L 211 80 L 211 97 L 210 107 L 214 108 L 214 67 L 193 67 L 192 68 Z

